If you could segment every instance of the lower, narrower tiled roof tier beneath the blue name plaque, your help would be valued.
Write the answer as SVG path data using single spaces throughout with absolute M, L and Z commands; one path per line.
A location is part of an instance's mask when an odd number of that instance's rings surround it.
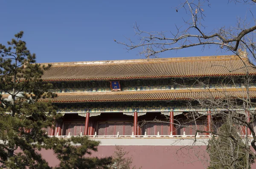
M 250 97 L 256 97 L 256 88 L 250 89 Z M 192 100 L 201 98 L 247 97 L 245 89 L 220 90 L 179 90 L 179 91 L 138 91 L 138 92 L 102 92 L 102 93 L 61 93 L 51 99 L 53 103 L 84 102 L 125 102 L 125 101 L 160 101 L 160 100 Z M 41 99 L 47 102 L 48 99 Z

